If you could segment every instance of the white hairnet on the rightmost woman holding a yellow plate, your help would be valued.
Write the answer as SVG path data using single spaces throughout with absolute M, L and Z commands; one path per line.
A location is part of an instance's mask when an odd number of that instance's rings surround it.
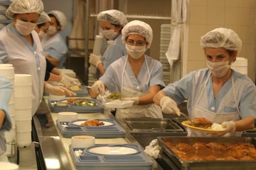
M 233 30 L 216 28 L 201 37 L 200 46 L 202 48 L 225 48 L 237 51 L 238 54 L 242 48 L 242 41 Z

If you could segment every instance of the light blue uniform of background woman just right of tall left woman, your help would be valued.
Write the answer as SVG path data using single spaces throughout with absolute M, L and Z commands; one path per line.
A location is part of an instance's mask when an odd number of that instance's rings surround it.
M 63 69 L 67 58 L 67 45 L 62 36 L 57 33 L 51 38 L 42 40 L 43 51 L 47 56 L 53 57 L 59 61 L 57 68 Z

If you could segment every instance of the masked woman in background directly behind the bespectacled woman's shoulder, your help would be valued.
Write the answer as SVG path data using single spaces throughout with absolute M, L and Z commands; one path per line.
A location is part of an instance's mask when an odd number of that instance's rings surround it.
M 99 70 L 100 75 L 103 75 L 112 62 L 127 54 L 121 40 L 122 28 L 126 25 L 127 19 L 123 12 L 116 9 L 102 11 L 97 18 L 100 21 L 103 36 L 107 40 L 113 40 L 113 43 L 108 46 L 103 56 L 90 54 L 90 64 Z

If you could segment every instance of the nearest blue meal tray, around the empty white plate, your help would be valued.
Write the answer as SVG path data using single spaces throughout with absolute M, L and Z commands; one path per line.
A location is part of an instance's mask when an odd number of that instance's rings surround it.
M 135 153 L 127 155 L 105 155 L 104 153 L 92 153 L 90 150 L 97 147 L 124 147 L 135 150 Z M 152 161 L 137 144 L 96 144 L 89 148 L 73 148 L 69 150 L 77 169 L 152 169 Z M 77 155 L 76 151 L 82 151 Z M 104 151 L 103 151 L 104 152 Z

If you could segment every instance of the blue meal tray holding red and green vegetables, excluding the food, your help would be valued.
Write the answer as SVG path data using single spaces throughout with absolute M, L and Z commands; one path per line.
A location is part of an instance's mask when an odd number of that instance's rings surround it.
M 67 106 L 56 106 L 56 103 L 61 103 L 65 100 L 49 100 L 49 108 L 54 113 L 64 112 L 64 111 L 71 111 L 76 113 L 103 113 L 104 108 L 100 101 L 96 99 L 87 99 L 90 101 L 94 101 L 97 105 L 96 106 L 75 106 L 75 104 L 67 104 Z

